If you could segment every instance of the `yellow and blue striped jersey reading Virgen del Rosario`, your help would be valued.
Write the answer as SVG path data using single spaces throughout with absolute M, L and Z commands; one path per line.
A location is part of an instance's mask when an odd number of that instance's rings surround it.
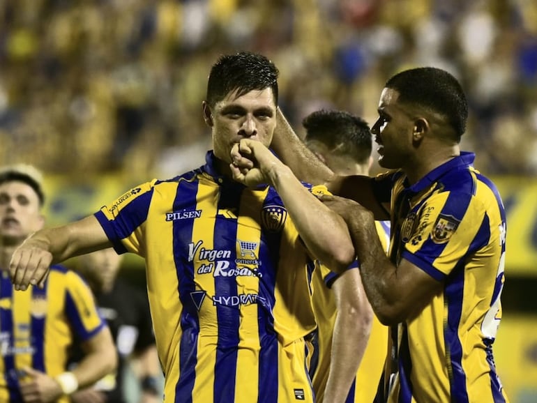
M 117 252 L 145 258 L 165 402 L 312 402 L 308 252 L 273 188 L 214 160 L 96 213 Z

